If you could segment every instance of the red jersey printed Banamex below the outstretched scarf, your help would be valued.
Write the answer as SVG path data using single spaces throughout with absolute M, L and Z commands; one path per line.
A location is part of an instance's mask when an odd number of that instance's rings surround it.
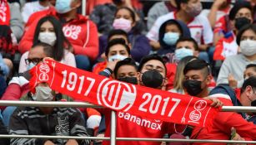
M 105 137 L 110 137 L 111 110 L 104 109 L 106 117 Z M 165 123 L 161 120 L 141 118 L 139 116 L 116 112 L 117 138 L 163 138 L 164 133 L 182 133 L 185 125 Z M 118 145 L 160 145 L 160 142 L 145 141 L 117 141 Z M 103 145 L 110 145 L 110 141 L 103 141 Z

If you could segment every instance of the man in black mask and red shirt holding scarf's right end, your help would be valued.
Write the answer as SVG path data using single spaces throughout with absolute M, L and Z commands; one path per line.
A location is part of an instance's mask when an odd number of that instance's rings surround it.
M 208 64 L 204 60 L 192 60 L 184 70 L 185 80 L 183 87 L 188 94 L 203 98 L 208 96 L 208 84 L 212 79 Z M 213 94 L 209 97 L 218 98 L 225 106 L 231 106 L 232 101 L 227 94 Z M 231 134 L 231 128 L 235 128 L 237 133 L 245 139 L 256 139 L 256 125 L 248 123 L 240 114 L 234 112 L 219 112 L 213 120 L 213 128 L 193 128 L 191 138 L 193 139 L 222 139 L 228 140 Z M 193 143 L 198 144 L 198 143 Z M 212 143 L 199 143 L 212 144 Z M 226 144 L 226 143 L 218 143 Z

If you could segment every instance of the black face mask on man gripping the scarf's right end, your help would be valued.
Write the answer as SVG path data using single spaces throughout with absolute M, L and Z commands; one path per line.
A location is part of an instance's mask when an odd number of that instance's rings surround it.
M 198 80 L 185 80 L 183 81 L 183 87 L 187 90 L 188 94 L 196 96 L 200 94 L 203 89 L 201 88 L 202 81 Z

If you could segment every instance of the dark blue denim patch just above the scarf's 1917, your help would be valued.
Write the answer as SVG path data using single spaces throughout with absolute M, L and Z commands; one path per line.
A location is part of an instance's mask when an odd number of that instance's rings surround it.
M 88 56 L 77 55 L 75 56 L 77 68 L 81 70 L 91 70 L 91 62 Z

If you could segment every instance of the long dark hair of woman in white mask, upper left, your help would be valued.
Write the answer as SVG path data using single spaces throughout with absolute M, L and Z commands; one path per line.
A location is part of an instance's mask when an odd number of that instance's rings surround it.
M 36 27 L 34 38 L 33 38 L 33 45 L 40 42 L 38 40 L 38 36 L 40 33 L 40 28 L 44 22 L 51 22 L 53 24 L 54 32 L 56 34 L 56 43 L 53 46 L 53 59 L 54 60 L 62 60 L 64 57 L 64 48 L 67 48 L 68 50 L 71 48 L 70 42 L 67 40 L 67 38 L 63 34 L 63 26 L 61 22 L 58 21 L 56 17 L 53 16 L 46 16 L 39 20 L 38 25 Z

